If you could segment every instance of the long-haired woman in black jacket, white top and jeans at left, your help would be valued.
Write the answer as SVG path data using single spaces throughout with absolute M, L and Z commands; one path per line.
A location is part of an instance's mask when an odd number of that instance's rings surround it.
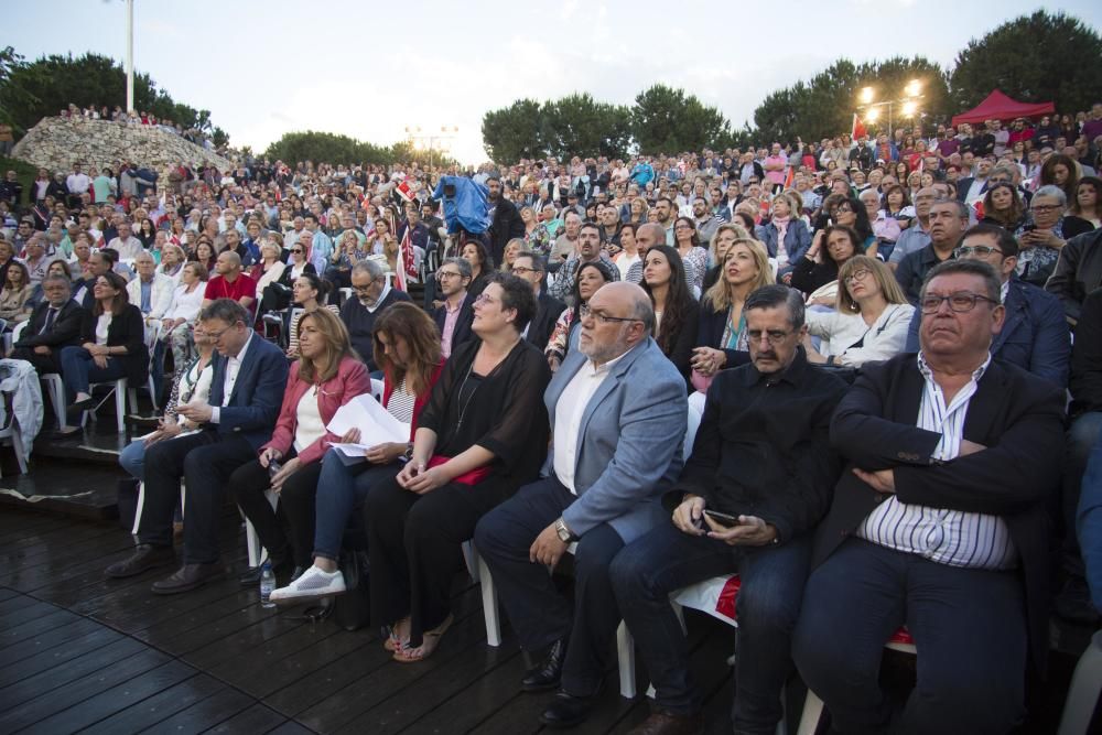
M 117 273 L 104 273 L 93 287 L 96 303 L 84 314 L 80 344 L 62 349 L 62 380 L 71 413 L 96 406 L 90 383 L 127 378 L 132 386 L 145 382 L 149 350 L 141 312 L 127 296 L 127 283 Z M 72 435 L 80 426 L 60 426 Z

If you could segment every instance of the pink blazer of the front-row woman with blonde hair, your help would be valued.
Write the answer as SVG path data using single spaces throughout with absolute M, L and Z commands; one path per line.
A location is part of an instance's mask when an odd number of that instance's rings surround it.
M 260 447 L 263 452 L 268 447 L 279 450 L 283 456 L 291 451 L 294 444 L 294 432 L 298 429 L 299 401 L 311 388 L 311 383 L 299 380 L 299 361 L 291 366 L 291 375 L 288 376 L 287 390 L 283 391 L 283 406 L 279 411 L 279 420 L 276 422 L 276 431 L 271 440 Z M 345 357 L 337 367 L 337 374 L 318 387 L 317 410 L 322 414 L 322 421 L 328 423 L 337 409 L 365 393 L 371 392 L 371 378 L 363 363 Z M 299 460 L 303 464 L 310 464 L 322 458 L 328 448 L 329 442 L 339 439 L 332 432 L 325 432 L 317 441 L 303 447 L 299 452 Z

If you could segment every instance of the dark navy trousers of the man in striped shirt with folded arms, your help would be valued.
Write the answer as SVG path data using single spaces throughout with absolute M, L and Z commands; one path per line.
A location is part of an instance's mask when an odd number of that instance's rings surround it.
M 739 601 L 741 602 L 741 601 Z M 906 624 L 918 683 L 889 723 L 884 644 Z M 938 564 L 849 539 L 811 574 L 792 656 L 844 733 L 1006 733 L 1025 713 L 1026 621 L 1014 572 Z

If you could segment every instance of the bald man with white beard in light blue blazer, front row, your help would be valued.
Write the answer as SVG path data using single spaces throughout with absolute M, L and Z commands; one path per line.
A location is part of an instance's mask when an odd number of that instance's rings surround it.
M 657 253 L 652 248 L 648 258 Z M 683 280 L 680 271 L 674 277 Z M 620 620 L 608 564 L 662 522 L 659 499 L 681 469 L 684 378 L 651 339 L 653 325 L 650 299 L 634 283 L 609 283 L 593 294 L 577 348 L 544 394 L 552 472 L 520 488 L 475 530 L 521 647 L 547 649 L 520 687 L 559 688 L 541 716 L 552 726 L 570 727 L 588 714 Z M 575 541 L 571 603 L 548 569 Z

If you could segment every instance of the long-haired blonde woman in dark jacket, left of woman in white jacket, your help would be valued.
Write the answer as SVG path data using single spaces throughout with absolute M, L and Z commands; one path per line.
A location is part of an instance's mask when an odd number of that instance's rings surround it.
M 696 346 L 691 360 L 692 369 L 705 380 L 723 368 L 749 361 L 743 304 L 750 293 L 774 282 L 769 256 L 757 240 L 735 240 L 722 268 L 719 280 L 701 299 Z

